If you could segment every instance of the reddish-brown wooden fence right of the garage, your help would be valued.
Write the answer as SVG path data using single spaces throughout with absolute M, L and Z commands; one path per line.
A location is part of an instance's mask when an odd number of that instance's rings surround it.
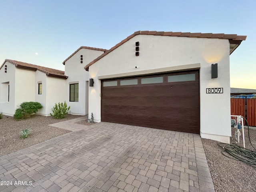
M 249 126 L 256 127 L 256 98 L 230 98 L 230 104 L 231 115 L 242 115 L 247 119 Z M 246 125 L 246 122 L 244 124 Z

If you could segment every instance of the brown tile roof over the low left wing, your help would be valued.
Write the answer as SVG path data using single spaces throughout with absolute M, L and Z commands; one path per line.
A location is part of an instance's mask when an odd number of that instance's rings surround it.
M 21 69 L 34 70 L 34 71 L 38 70 L 38 71 L 45 73 L 47 76 L 50 76 L 50 77 L 57 77 L 57 78 L 64 78 L 64 79 L 68 78 L 68 76 L 64 75 L 64 71 L 61 71 L 61 70 L 38 66 L 38 65 L 33 65 L 33 64 L 10 60 L 10 59 L 6 59 L 4 61 L 4 63 L 2 64 L 2 66 L 0 67 L 0 69 L 4 66 L 5 62 L 14 64 L 17 68 L 21 68 Z

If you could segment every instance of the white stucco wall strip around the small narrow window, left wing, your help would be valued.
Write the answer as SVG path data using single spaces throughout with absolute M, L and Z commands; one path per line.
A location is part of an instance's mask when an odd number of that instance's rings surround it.
M 42 83 L 42 94 L 38 94 L 38 84 Z M 43 108 L 38 110 L 38 114 L 46 114 L 46 88 L 48 84 L 46 82 L 46 74 L 40 71 L 36 71 L 36 80 L 35 80 L 35 101 L 39 102 Z

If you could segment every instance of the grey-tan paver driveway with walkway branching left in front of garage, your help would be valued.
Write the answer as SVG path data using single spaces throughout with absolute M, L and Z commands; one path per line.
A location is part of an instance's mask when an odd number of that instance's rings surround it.
M 214 192 L 199 135 L 81 120 L 52 124 L 73 132 L 0 157 L 0 191 Z

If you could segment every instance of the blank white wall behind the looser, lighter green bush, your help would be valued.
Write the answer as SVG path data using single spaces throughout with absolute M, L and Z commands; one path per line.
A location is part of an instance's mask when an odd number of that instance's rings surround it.
M 52 113 L 55 103 L 65 101 L 66 79 L 46 76 L 46 115 Z

